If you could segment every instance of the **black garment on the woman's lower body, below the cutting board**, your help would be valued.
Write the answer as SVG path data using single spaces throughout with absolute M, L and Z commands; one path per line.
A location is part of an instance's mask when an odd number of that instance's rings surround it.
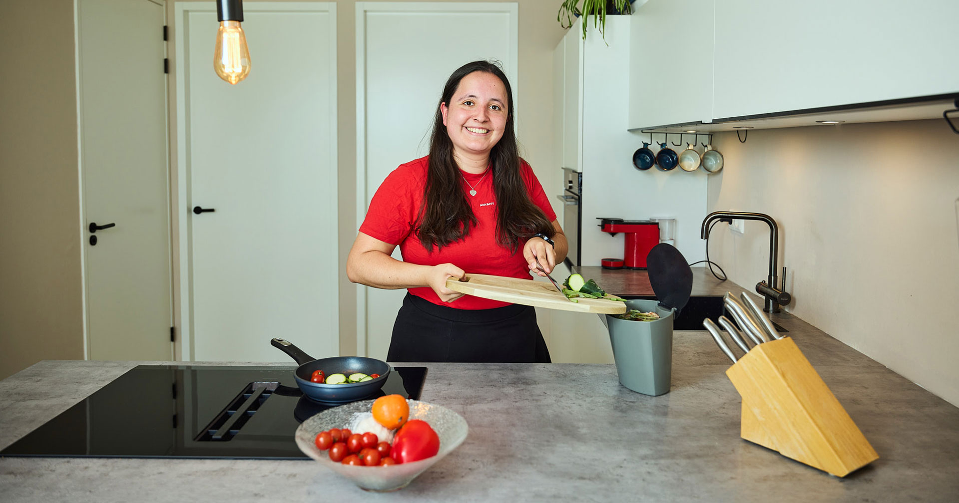
M 436 306 L 415 295 L 403 299 L 387 361 L 550 363 L 536 325 L 536 309 Z

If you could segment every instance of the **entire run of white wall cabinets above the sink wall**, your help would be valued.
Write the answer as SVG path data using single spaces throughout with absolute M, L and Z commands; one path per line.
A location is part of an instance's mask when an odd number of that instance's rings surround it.
M 956 18 L 957 0 L 649 0 L 632 16 L 629 128 L 950 101 Z M 943 109 L 895 106 L 852 122 Z

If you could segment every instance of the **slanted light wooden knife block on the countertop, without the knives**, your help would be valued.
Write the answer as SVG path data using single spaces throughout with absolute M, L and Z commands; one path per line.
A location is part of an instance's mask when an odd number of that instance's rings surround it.
M 742 397 L 743 439 L 838 477 L 878 459 L 791 338 L 754 347 L 726 376 Z

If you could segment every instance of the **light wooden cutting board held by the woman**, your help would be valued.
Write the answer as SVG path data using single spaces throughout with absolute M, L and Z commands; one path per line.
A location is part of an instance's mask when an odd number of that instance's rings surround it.
M 467 274 L 465 281 L 456 281 L 456 278 L 446 280 L 446 287 L 467 295 L 475 295 L 484 299 L 535 306 L 537 308 L 572 310 L 575 312 L 596 312 L 605 314 L 622 314 L 626 312 L 626 304 L 620 301 L 605 299 L 577 298 L 578 302 L 570 302 L 555 286 L 549 282 L 525 280 L 522 278 L 506 278 L 488 274 Z

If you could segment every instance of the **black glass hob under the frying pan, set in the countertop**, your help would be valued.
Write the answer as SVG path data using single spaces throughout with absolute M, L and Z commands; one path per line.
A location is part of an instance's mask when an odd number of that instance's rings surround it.
M 341 403 L 305 397 L 296 367 L 140 365 L 0 451 L 0 456 L 309 459 L 293 442 Z M 426 367 L 396 367 L 383 389 L 416 400 Z

